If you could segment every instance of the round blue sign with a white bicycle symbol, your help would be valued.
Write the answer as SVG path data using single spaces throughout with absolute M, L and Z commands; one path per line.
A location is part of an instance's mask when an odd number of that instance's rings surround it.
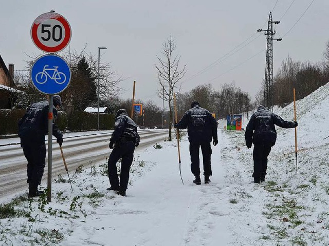
M 62 57 L 44 55 L 34 62 L 31 79 L 40 92 L 54 95 L 64 91 L 69 85 L 71 70 Z

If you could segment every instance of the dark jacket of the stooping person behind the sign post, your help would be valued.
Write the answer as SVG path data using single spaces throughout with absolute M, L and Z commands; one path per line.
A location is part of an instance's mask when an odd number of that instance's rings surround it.
M 32 104 L 19 120 L 19 137 L 44 141 L 48 134 L 48 101 L 40 101 Z M 63 134 L 55 124 L 57 110 L 53 107 L 52 135 L 57 139 L 63 138 Z

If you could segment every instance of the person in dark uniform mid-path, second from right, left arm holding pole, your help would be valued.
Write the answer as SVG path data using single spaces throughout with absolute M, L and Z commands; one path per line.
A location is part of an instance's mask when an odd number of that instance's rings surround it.
M 196 185 L 201 185 L 200 147 L 203 155 L 205 183 L 210 182 L 209 176 L 212 175 L 210 143 L 213 139 L 213 145 L 216 146 L 218 144 L 217 125 L 217 121 L 212 114 L 208 110 L 201 108 L 198 101 L 192 101 L 191 109 L 186 111 L 179 122 L 174 125 L 178 129 L 187 128 L 190 142 L 191 171 L 195 176 L 193 183 Z

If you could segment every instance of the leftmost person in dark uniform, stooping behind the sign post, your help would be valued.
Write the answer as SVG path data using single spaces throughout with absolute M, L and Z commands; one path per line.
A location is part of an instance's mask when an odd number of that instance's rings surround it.
M 62 100 L 59 95 L 53 95 L 53 123 L 52 135 L 57 138 L 60 146 L 63 143 L 63 134 L 58 129 L 55 120 L 57 110 L 62 106 Z M 27 163 L 27 182 L 29 184 L 29 197 L 40 196 L 38 185 L 41 183 L 44 168 L 46 165 L 46 145 L 45 136 L 48 134 L 48 101 L 40 101 L 32 104 L 19 120 L 19 137 L 21 138 L 21 147 L 28 161 Z

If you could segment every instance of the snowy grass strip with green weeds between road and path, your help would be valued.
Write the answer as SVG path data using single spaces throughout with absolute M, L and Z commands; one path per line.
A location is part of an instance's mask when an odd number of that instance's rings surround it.
M 2 245 L 52 245 L 71 235 L 76 220 L 86 223 L 97 214 L 97 208 L 117 195 L 106 191 L 109 187 L 107 159 L 104 163 L 86 163 L 71 172 L 74 192 L 67 177 L 59 175 L 52 182 L 52 200 L 47 202 L 47 189 L 41 197 L 27 198 L 27 193 L 0 204 L 0 242 Z M 131 167 L 130 185 L 154 163 L 135 155 Z M 120 161 L 118 168 L 120 167 Z M 119 169 L 120 170 L 120 169 Z M 118 173 L 120 174 L 118 170 Z M 112 203 L 115 205 L 115 201 Z

